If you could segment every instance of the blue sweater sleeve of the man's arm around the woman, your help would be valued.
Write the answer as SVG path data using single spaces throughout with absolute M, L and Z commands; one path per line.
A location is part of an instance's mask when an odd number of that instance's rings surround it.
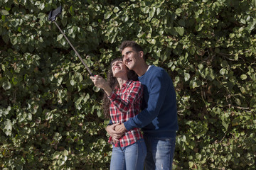
M 159 111 L 164 103 L 164 98 L 166 96 L 166 90 L 168 89 L 169 83 L 166 81 L 169 76 L 164 70 L 156 72 L 154 76 L 151 77 L 149 82 L 149 100 L 147 102 L 147 107 L 139 113 L 138 115 L 130 118 L 124 123 L 127 130 L 133 128 L 144 128 L 144 126 L 149 123 L 159 115 Z

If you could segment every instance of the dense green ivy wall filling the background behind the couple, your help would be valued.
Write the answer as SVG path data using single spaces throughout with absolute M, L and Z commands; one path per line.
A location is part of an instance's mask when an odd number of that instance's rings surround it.
M 1 0 L 0 169 L 108 169 L 102 91 L 122 40 L 174 80 L 174 169 L 256 169 L 255 0 Z

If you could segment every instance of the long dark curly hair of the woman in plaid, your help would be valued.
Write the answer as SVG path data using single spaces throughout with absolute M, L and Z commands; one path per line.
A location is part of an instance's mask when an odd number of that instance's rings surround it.
M 117 82 L 117 78 L 113 77 L 113 72 L 112 72 L 112 64 L 113 62 L 116 61 L 122 61 L 122 58 L 117 58 L 112 60 L 110 64 L 110 69 L 107 73 L 107 84 L 110 85 L 110 88 L 112 91 L 116 91 L 116 87 L 119 85 Z M 138 75 L 133 71 L 129 70 L 127 73 L 127 77 L 130 80 L 137 81 L 138 80 Z M 107 97 L 107 94 L 105 93 L 103 96 L 103 114 L 105 115 L 106 118 L 110 118 L 110 98 Z

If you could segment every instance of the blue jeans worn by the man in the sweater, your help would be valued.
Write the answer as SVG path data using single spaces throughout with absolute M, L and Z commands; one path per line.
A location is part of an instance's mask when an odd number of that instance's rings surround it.
M 146 143 L 145 169 L 172 169 L 176 137 L 159 138 L 144 136 Z

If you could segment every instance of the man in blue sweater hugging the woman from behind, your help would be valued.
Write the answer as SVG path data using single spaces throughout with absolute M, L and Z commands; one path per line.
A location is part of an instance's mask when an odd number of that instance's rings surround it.
M 107 132 L 118 139 L 125 130 L 142 128 L 146 142 L 146 169 L 172 169 L 176 131 L 178 130 L 176 93 L 169 74 L 162 68 L 149 66 L 142 47 L 124 41 L 119 47 L 124 64 L 134 70 L 144 85 L 142 111 L 121 125 L 107 126 Z

